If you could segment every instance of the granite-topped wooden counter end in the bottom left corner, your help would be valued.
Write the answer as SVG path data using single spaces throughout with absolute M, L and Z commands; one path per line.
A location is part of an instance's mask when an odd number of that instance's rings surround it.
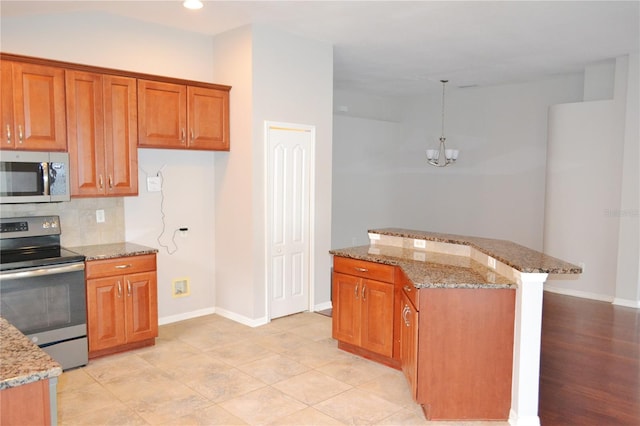
M 57 424 L 62 367 L 0 317 L 0 424 Z

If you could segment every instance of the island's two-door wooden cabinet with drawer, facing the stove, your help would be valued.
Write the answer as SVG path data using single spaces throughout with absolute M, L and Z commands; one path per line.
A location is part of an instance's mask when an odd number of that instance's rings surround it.
M 393 356 L 393 267 L 380 266 L 336 258 L 332 284 L 333 337 L 342 349 L 374 359 Z

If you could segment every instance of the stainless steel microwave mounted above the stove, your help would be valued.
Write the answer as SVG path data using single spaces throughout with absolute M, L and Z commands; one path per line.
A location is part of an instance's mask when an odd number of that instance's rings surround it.
M 0 151 L 0 204 L 69 201 L 69 154 Z

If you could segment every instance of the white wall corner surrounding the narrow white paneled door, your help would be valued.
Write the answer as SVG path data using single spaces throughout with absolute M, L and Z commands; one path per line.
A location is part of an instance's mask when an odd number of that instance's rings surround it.
M 216 291 L 220 312 L 257 324 L 268 319 L 265 266 L 265 120 L 316 126 L 314 302 L 330 300 L 332 48 L 262 27 L 216 37 L 216 62 L 244 101 L 232 119 L 239 147 L 216 161 Z M 234 91 L 238 89 L 239 94 Z

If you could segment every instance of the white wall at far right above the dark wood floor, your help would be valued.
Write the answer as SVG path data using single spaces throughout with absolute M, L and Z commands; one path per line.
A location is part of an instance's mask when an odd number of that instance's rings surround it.
M 549 111 L 544 250 L 584 271 L 550 277 L 547 289 L 640 307 L 638 55 L 617 58 L 608 75 L 595 67 L 585 92 L 609 86 L 609 100 Z

